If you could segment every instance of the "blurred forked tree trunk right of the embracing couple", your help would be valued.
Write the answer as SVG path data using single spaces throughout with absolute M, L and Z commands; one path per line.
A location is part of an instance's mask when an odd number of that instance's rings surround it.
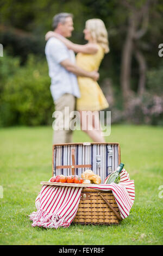
M 128 107 L 128 100 L 131 95 L 130 77 L 131 77 L 131 60 L 135 56 L 139 65 L 139 82 L 137 86 L 137 93 L 142 95 L 145 90 L 146 82 L 146 60 L 141 51 L 140 40 L 145 35 L 148 29 L 149 21 L 149 7 L 152 0 L 146 0 L 131 3 L 131 1 L 122 0 L 122 4 L 127 8 L 128 26 L 126 39 L 124 40 L 122 48 L 121 61 L 121 88 L 124 101 L 124 108 Z M 137 4 L 139 4 L 137 6 Z

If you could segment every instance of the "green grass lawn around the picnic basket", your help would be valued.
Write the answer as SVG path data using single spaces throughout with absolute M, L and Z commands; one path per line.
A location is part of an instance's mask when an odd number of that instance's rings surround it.
M 90 141 L 82 131 L 74 142 Z M 0 129 L 1 245 L 162 245 L 163 129 L 112 125 L 106 142 L 119 142 L 121 161 L 135 180 L 135 202 L 117 226 L 32 227 L 40 181 L 52 175 L 52 127 Z M 162 188 L 163 190 L 163 188 Z

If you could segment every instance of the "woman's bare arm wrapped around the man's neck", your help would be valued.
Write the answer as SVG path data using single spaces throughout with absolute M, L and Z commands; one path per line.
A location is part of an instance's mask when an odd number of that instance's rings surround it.
M 67 46 L 68 49 L 71 49 L 76 53 L 82 52 L 82 53 L 87 53 L 87 54 L 95 54 L 98 51 L 98 46 L 96 44 L 93 44 L 93 43 L 88 43 L 85 45 L 74 44 L 67 38 L 64 38 L 64 36 L 61 36 L 60 34 L 52 32 L 52 31 L 49 31 L 46 34 L 45 39 L 48 40 L 52 36 L 55 36 L 55 38 L 58 38 L 61 42 L 63 42 Z

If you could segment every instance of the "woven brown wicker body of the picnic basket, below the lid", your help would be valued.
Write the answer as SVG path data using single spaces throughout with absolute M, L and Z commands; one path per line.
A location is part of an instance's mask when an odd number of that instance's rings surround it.
M 111 191 L 83 188 L 77 215 L 73 223 L 78 224 L 119 224 L 120 211 Z

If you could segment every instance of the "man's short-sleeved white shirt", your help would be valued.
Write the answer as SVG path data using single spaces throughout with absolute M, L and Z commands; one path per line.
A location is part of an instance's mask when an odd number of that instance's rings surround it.
M 74 52 L 69 50 L 59 39 L 53 37 L 47 41 L 45 54 L 49 68 L 49 77 L 51 77 L 50 90 L 53 101 L 59 99 L 65 93 L 80 97 L 76 75 L 67 71 L 60 64 L 65 59 L 69 59 L 70 62 L 75 64 Z

